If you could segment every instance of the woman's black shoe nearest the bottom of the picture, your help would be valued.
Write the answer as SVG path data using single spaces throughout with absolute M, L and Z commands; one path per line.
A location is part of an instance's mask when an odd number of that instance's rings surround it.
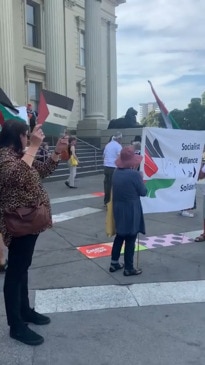
M 30 346 L 38 346 L 44 342 L 44 338 L 28 328 L 26 324 L 18 329 L 11 327 L 10 337 Z

